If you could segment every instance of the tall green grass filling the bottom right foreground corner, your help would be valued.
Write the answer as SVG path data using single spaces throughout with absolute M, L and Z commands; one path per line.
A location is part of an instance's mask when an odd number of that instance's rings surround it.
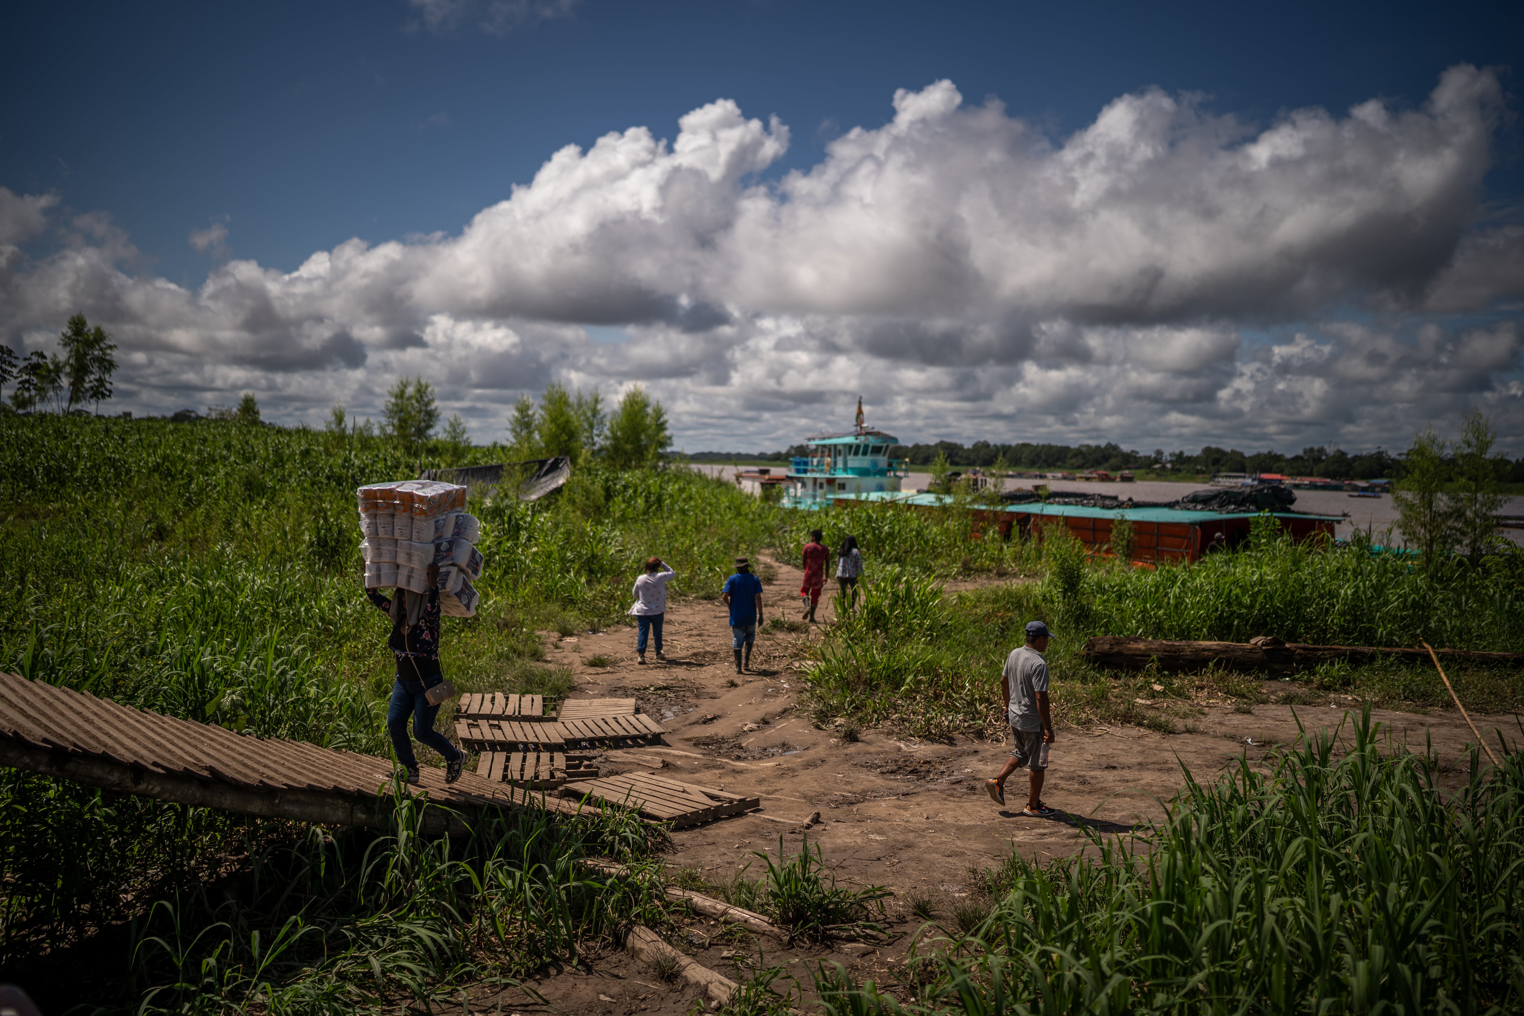
M 1186 788 L 1158 827 L 989 873 L 896 1002 L 821 972 L 829 1013 L 1504 1013 L 1524 1005 L 1524 756 L 1458 786 L 1369 707 Z

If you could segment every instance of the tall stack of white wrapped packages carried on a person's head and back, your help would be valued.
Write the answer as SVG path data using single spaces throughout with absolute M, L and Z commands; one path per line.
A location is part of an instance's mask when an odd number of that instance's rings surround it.
M 450 617 L 475 614 L 482 524 L 466 515 L 466 489 L 433 480 L 372 483 L 360 487 L 360 532 L 367 588 L 428 591 L 428 567 L 439 565 L 439 609 Z

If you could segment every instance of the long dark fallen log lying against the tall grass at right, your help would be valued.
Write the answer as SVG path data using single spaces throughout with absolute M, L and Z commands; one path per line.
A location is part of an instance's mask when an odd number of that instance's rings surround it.
M 1457 663 L 1481 663 L 1504 667 L 1524 666 L 1524 652 L 1475 652 L 1469 649 L 1439 649 L 1443 660 Z M 1388 646 L 1312 646 L 1288 643 L 1260 635 L 1248 643 L 1216 641 L 1170 641 L 1163 638 L 1129 638 L 1126 635 L 1097 635 L 1085 643 L 1082 655 L 1102 667 L 1141 670 L 1157 661 L 1161 670 L 1204 670 L 1222 666 L 1228 670 L 1251 673 L 1295 673 L 1311 670 L 1321 663 L 1343 660 L 1350 666 L 1362 666 L 1378 660 L 1407 660 L 1428 663 L 1423 649 L 1399 649 Z

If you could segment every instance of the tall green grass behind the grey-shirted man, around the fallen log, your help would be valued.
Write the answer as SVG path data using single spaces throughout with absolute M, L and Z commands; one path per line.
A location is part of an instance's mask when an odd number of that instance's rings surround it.
M 882 521 L 882 510 L 841 512 L 847 516 L 841 524 Z M 917 556 L 914 545 L 890 551 L 881 542 L 866 544 L 861 605 L 829 629 L 809 673 L 821 717 L 847 714 L 922 736 L 995 733 L 1001 727 L 1000 670 L 1006 655 L 1023 643 L 1029 620 L 1047 621 L 1056 632 L 1049 667 L 1059 720 L 1134 722 L 1160 730 L 1172 730 L 1172 724 L 1135 708 L 1135 675 L 1114 681 L 1081 658 L 1091 635 L 1224 641 L 1279 635 L 1286 641 L 1350 646 L 1416 646 L 1425 640 L 1454 649 L 1524 652 L 1521 551 L 1497 554 L 1481 565 L 1454 558 L 1422 570 L 1402 556 L 1379 553 L 1367 539 L 1349 545 L 1298 544 L 1262 519 L 1239 551 L 1209 554 L 1193 564 L 1134 568 L 1113 559 L 1087 559 L 1082 544 L 1049 532 L 1038 545 L 1018 539 L 1017 548 L 1006 551 L 1032 579 L 951 596 L 939 577 L 946 574 L 949 554 L 937 541 L 959 533 L 965 522 L 949 510 L 942 516 L 890 519 L 882 529 L 864 532 L 882 541 L 895 526 L 902 527 L 898 536 L 930 532 L 933 551 Z M 977 547 L 994 542 L 972 541 Z M 1041 580 L 1035 580 L 1038 576 Z M 1463 664 L 1452 676 L 1477 708 L 1524 702 L 1524 673 L 1518 669 Z M 1227 675 L 1204 679 L 1227 681 L 1242 698 L 1256 698 L 1247 682 Z M 1448 705 L 1428 666 L 1393 661 L 1329 667 L 1306 679 L 1321 690 L 1355 689 L 1387 702 Z M 1189 698 L 1193 690 L 1193 682 L 1164 675 L 1151 675 L 1145 684 L 1160 681 L 1169 685 L 1169 696 Z

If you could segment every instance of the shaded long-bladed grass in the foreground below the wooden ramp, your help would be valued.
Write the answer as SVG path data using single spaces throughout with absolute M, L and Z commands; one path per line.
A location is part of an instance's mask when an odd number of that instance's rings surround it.
M 389 835 L 309 829 L 253 845 L 232 887 L 155 902 L 133 925 L 123 995 L 139 1013 L 431 1007 L 664 920 L 631 813 L 498 815 L 462 842 L 421 836 L 427 807 L 398 795 Z M 629 873 L 588 874 L 588 855 Z

